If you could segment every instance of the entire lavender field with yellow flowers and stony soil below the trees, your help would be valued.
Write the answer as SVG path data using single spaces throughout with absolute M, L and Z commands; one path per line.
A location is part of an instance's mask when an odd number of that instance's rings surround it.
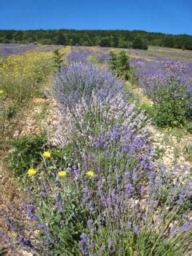
M 0 254 L 190 256 L 192 51 L 0 53 Z

